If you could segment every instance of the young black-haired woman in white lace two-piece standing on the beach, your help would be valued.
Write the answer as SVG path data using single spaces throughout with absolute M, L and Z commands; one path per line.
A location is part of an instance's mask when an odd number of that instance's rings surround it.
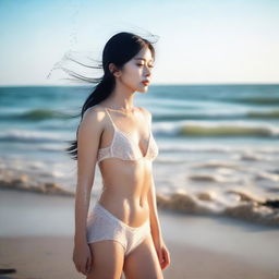
M 147 92 L 154 61 L 147 39 L 122 32 L 108 40 L 104 76 L 68 148 L 77 159 L 73 262 L 88 279 L 119 279 L 122 271 L 126 279 L 161 279 L 170 264 L 153 179 L 151 113 L 133 102 L 135 92 Z M 104 187 L 87 216 L 96 163 Z

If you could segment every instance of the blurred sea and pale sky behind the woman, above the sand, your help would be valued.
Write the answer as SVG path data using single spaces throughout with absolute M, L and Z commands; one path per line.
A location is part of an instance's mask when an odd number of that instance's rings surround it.
M 158 197 L 160 205 L 279 223 L 271 208 L 254 213 L 279 195 L 277 2 L 1 1 L 0 8 L 3 186 L 74 193 L 76 165 L 63 149 L 80 121 L 70 116 L 80 113 L 93 85 L 65 80 L 59 66 L 69 57 L 100 61 L 106 41 L 126 31 L 158 38 L 153 83 L 135 104 L 154 116 L 157 193 L 180 197 Z M 97 172 L 93 194 L 100 186 Z

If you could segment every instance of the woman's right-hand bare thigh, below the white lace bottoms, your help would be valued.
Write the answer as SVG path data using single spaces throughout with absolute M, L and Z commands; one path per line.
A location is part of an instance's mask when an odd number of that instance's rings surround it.
M 151 234 L 124 259 L 125 279 L 163 279 Z

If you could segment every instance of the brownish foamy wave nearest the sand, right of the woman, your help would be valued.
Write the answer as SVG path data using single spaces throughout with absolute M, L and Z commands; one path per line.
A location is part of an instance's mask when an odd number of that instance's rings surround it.
M 157 194 L 159 208 L 197 215 L 227 216 L 251 222 L 279 227 L 279 201 L 259 201 L 252 195 L 234 191 L 239 195 L 239 203 L 226 205 L 216 201 L 208 193 L 191 195 L 187 193 Z

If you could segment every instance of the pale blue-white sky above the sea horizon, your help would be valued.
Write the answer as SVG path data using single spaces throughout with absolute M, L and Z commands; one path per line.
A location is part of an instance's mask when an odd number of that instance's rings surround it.
M 46 76 L 69 50 L 100 59 L 118 32 L 159 36 L 153 84 L 279 83 L 279 1 L 0 0 L 0 85 Z

